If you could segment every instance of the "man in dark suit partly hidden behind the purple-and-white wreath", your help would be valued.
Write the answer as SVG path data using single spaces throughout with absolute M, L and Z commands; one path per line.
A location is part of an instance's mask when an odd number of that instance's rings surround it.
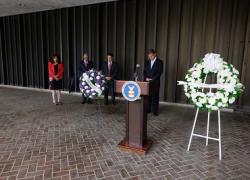
M 78 79 L 80 79 L 80 77 L 82 76 L 83 73 L 85 73 L 86 71 L 89 71 L 92 68 L 94 68 L 93 61 L 89 61 L 88 53 L 84 53 L 83 58 L 80 61 L 79 66 L 78 66 Z M 91 104 L 91 99 L 87 99 L 84 96 L 84 94 L 82 94 L 82 102 L 81 102 L 81 104 L 85 104 L 86 102 L 88 104 Z

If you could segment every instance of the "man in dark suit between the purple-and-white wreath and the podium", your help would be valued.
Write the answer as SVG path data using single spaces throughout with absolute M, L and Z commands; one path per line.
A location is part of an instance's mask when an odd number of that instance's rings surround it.
M 113 61 L 113 54 L 107 54 L 107 60 L 103 62 L 102 73 L 107 80 L 107 89 L 104 92 L 104 103 L 108 104 L 108 95 L 112 97 L 112 103 L 115 104 L 115 80 L 117 78 L 118 66 Z

